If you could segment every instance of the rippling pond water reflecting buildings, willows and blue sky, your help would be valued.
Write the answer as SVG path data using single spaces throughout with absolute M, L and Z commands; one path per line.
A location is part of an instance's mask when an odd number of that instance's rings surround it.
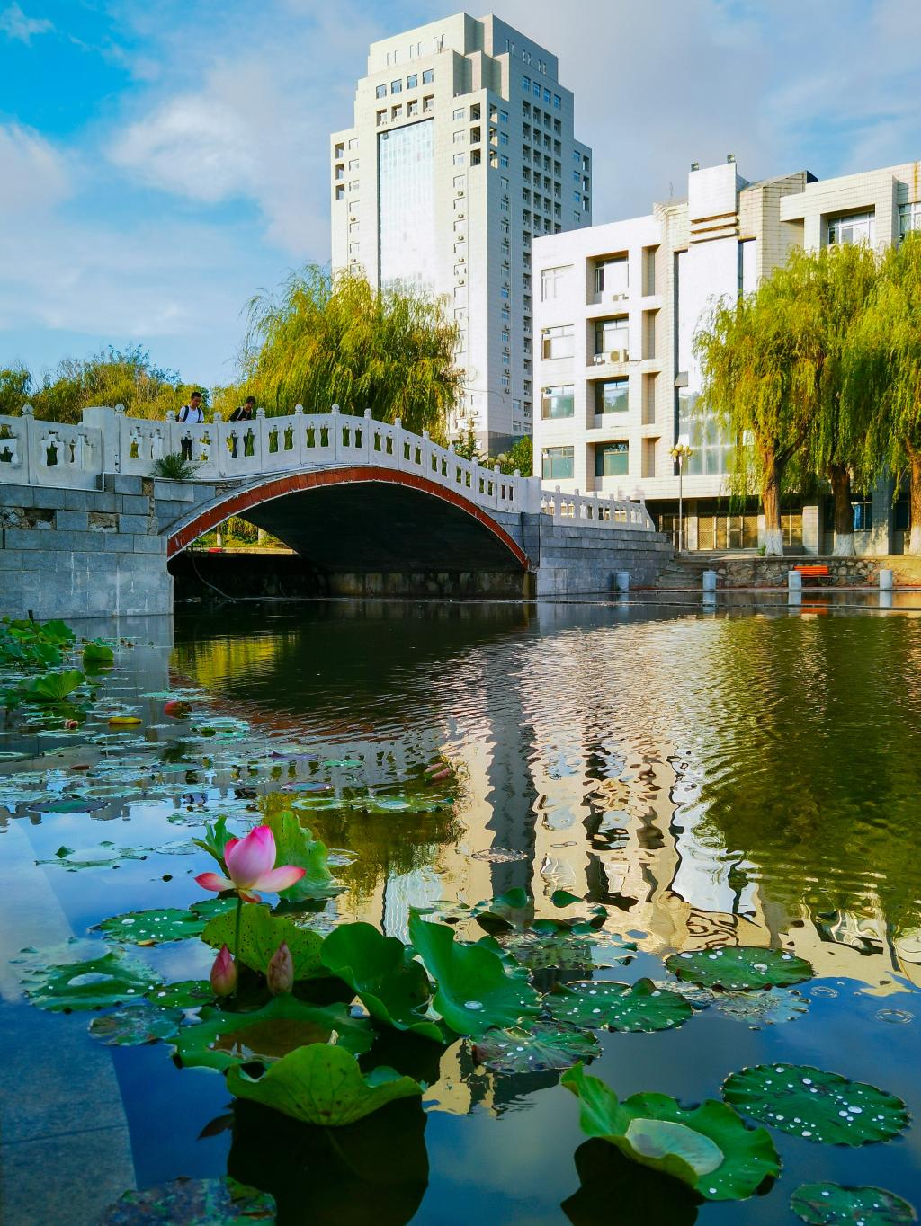
M 394 1041 L 384 1063 L 427 1084 L 424 1113 L 396 1105 L 330 1140 L 234 1107 L 221 1073 L 178 1068 L 163 1043 L 103 1047 L 96 1014 L 31 1007 L 18 954 L 72 937 L 98 951 L 109 916 L 188 907 L 213 867 L 191 843 L 206 820 L 243 831 L 293 803 L 343 888 L 307 916 L 324 933 L 363 920 L 408 940 L 421 907 L 477 939 L 466 908 L 520 888 L 537 917 L 603 908 L 569 965 L 522 946 L 541 991 L 672 980 L 666 958 L 721 945 L 811 962 L 806 982 L 714 997 L 679 1029 L 601 1031 L 589 1072 L 621 1098 L 719 1098 L 728 1074 L 786 1062 L 892 1091 L 916 1117 L 915 615 L 237 604 L 183 613 L 162 640 L 146 626 L 117 651 L 77 732 L 16 717 L 0 736 L 9 1226 L 80 1226 L 123 1188 L 228 1172 L 305 1226 L 792 1224 L 791 1193 L 817 1181 L 921 1206 L 917 1125 L 860 1148 L 773 1127 L 780 1178 L 699 1203 L 586 1141 L 557 1072 L 491 1070 L 468 1041 Z M 141 723 L 110 727 L 123 709 Z M 439 760 L 451 776 L 426 782 Z M 579 901 L 560 908 L 558 890 Z M 206 978 L 213 958 L 197 939 L 131 954 L 167 981 Z

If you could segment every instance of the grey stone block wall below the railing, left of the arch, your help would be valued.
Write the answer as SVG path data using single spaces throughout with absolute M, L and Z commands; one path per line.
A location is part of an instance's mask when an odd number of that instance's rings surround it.
M 0 615 L 172 613 L 152 485 L 121 476 L 103 490 L 0 484 Z

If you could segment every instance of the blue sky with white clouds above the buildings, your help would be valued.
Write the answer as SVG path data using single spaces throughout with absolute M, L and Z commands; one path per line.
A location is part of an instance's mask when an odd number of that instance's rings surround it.
M 0 0 L 0 368 L 140 343 L 229 383 L 245 304 L 330 255 L 329 134 L 411 0 Z M 503 0 L 559 56 L 596 223 L 921 158 L 921 0 Z M 473 10 L 482 16 L 480 10 Z

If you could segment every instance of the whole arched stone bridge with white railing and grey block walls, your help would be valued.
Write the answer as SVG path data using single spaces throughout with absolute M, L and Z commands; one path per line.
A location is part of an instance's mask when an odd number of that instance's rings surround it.
M 180 451 L 194 479 L 151 476 Z M 0 612 L 169 612 L 168 564 L 229 515 L 291 546 L 334 592 L 336 576 L 342 591 L 386 576 L 391 595 L 419 591 L 421 576 L 443 595 L 610 591 L 616 571 L 649 581 L 670 553 L 641 501 L 562 494 L 369 413 L 0 417 Z

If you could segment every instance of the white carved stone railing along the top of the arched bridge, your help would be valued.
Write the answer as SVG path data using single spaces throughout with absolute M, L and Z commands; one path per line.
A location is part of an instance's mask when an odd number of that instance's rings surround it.
M 208 423 L 125 416 L 121 406 L 83 409 L 78 425 L 37 421 L 26 406 L 21 417 L 0 417 L 0 482 L 94 489 L 103 473 L 150 477 L 157 460 L 185 454 L 195 478 L 220 482 L 309 468 L 381 467 L 411 473 L 493 511 L 538 512 L 554 522 L 651 531 L 645 504 L 594 494 L 551 492 L 538 477 L 509 476 L 498 466 L 456 455 L 396 422 L 305 413 L 298 405 L 285 417 L 256 409 L 249 422 Z

